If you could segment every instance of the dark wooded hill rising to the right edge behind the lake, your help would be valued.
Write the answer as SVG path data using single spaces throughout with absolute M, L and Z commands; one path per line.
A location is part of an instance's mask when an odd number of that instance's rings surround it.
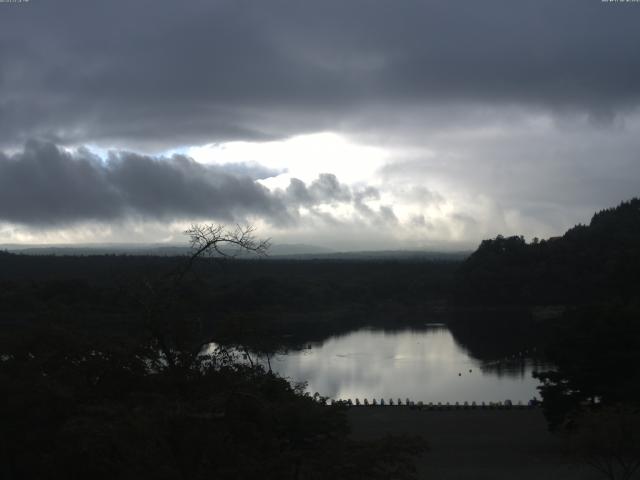
M 640 298 L 640 199 L 593 215 L 561 237 L 484 240 L 460 268 L 467 304 L 584 304 Z

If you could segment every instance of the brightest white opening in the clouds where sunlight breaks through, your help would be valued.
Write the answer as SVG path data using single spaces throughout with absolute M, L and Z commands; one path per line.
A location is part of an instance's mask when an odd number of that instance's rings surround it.
M 391 208 L 393 215 L 398 218 L 400 225 L 369 225 L 372 227 L 367 236 L 379 235 L 381 241 L 391 242 L 387 248 L 395 244 L 398 237 L 415 236 L 414 240 L 422 244 L 425 228 L 431 230 L 429 225 L 416 224 L 415 219 L 423 219 L 427 216 L 430 220 L 442 220 L 447 213 L 446 205 L 422 204 L 420 200 L 404 198 L 405 188 L 395 188 L 387 185 L 383 176 L 380 175 L 383 167 L 393 161 L 401 149 L 382 148 L 355 142 L 343 135 L 334 132 L 318 132 L 312 134 L 298 135 L 291 138 L 270 141 L 270 142 L 247 142 L 233 141 L 225 143 L 213 143 L 203 146 L 185 147 L 180 150 L 167 152 L 187 155 L 197 162 L 204 164 L 232 164 L 232 163 L 256 163 L 268 167 L 280 174 L 258 180 L 261 184 L 272 191 L 284 190 L 289 186 L 291 179 L 297 178 L 307 185 L 310 185 L 318 176 L 323 173 L 330 173 L 336 176 L 341 184 L 347 185 L 352 192 L 363 191 L 366 187 L 374 187 L 378 192 L 378 198 L 367 198 L 365 203 L 372 212 L 379 213 L 381 208 Z M 426 154 L 422 149 L 422 154 Z M 442 208 L 444 207 L 444 208 Z M 351 203 L 332 203 L 319 205 L 315 208 L 316 213 L 326 213 L 339 222 L 344 222 L 342 228 L 361 231 L 362 223 L 352 224 L 354 219 L 360 218 L 362 213 L 354 209 Z M 304 207 L 300 208 L 303 218 L 311 219 L 312 215 Z M 363 221 L 370 223 L 371 219 Z M 258 220 L 259 225 L 262 224 Z M 375 221 L 374 221 L 375 223 Z M 312 223 L 303 222 L 297 231 L 281 231 L 291 240 L 309 241 L 307 235 L 317 237 L 320 230 L 326 229 L 327 225 L 321 226 L 316 221 Z M 367 228 L 368 228 L 367 227 Z M 381 228 L 382 227 L 382 228 Z M 405 227 L 408 227 L 405 228 Z M 337 228 L 335 225 L 331 229 Z M 266 227 L 265 229 L 268 229 Z M 301 230 L 309 230 L 303 237 L 298 235 Z M 429 233 L 433 234 L 433 231 Z M 335 232 L 336 237 L 340 235 L 352 236 L 354 232 Z M 391 237 L 389 237 L 391 235 Z M 277 236 L 277 234 L 276 234 Z M 445 237 L 453 236 L 453 240 L 458 240 L 456 234 L 447 228 Z M 394 238 L 393 241 L 390 238 Z M 419 240 L 418 240 L 419 239 Z M 406 240 L 406 238 L 405 238 Z M 366 243 L 366 242 L 365 242 Z M 413 243 L 413 242 L 412 242 Z M 417 246 L 413 243 L 412 246 Z

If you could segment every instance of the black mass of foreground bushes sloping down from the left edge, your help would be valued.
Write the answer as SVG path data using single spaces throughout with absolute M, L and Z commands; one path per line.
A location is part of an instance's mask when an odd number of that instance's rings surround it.
M 344 408 L 235 361 L 59 326 L 5 350 L 7 479 L 411 478 L 410 437 L 354 441 Z

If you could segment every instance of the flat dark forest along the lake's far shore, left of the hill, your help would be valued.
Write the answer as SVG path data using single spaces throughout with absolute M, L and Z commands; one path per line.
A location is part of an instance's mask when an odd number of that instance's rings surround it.
M 132 330 L 148 292 L 185 257 L 0 255 L 5 322 L 82 316 Z M 231 324 L 301 342 L 363 325 L 423 322 L 441 309 L 459 262 L 198 259 L 182 312 L 213 332 Z M 260 335 L 263 337 L 264 335 Z M 286 337 L 285 337 L 286 336 Z M 246 335 L 245 335 L 246 337 Z

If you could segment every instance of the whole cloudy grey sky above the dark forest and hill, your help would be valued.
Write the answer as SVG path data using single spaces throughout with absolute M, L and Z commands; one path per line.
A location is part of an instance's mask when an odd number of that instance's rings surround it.
M 468 249 L 640 193 L 640 1 L 0 1 L 0 243 Z

